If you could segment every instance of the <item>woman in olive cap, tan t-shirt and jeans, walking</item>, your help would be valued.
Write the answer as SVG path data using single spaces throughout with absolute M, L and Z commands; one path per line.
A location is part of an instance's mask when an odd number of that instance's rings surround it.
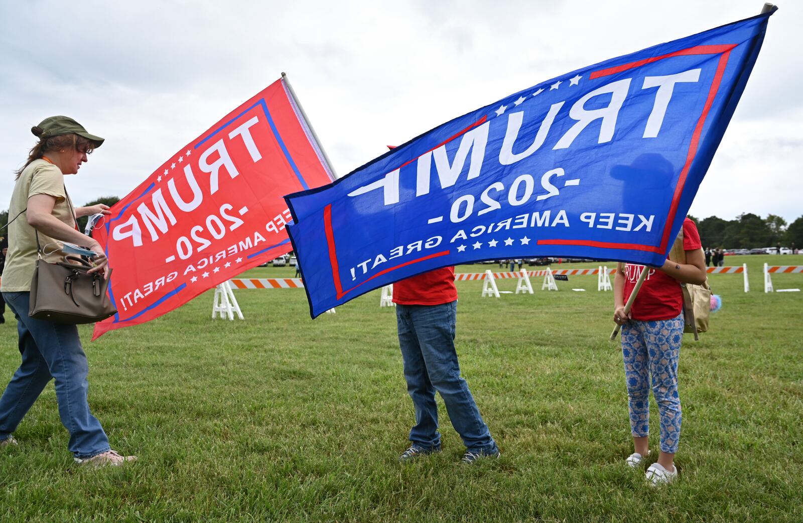
M 28 316 L 31 277 L 37 259 L 36 233 L 48 261 L 59 261 L 59 242 L 86 246 L 96 252 L 92 272 L 104 273 L 107 259 L 100 244 L 81 234 L 72 216 L 72 203 L 64 186 L 65 174 L 77 174 L 87 155 L 104 139 L 87 133 L 67 116 L 51 116 L 31 128 L 39 138 L 22 169 L 11 195 L 8 225 L 9 249 L 0 291 L 17 318 L 22 364 L 0 398 L 0 447 L 17 444 L 12 432 L 55 379 L 61 423 L 70 433 L 69 450 L 78 464 L 120 465 L 136 460 L 112 451 L 100 422 L 89 411 L 88 365 L 75 325 L 56 324 Z M 76 216 L 108 215 L 103 204 L 76 207 Z M 22 215 L 24 218 L 20 218 Z

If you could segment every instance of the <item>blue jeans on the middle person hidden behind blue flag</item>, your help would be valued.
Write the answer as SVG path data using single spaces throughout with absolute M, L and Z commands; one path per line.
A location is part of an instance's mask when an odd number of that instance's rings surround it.
M 446 403 L 454 430 L 467 449 L 493 452 L 496 443 L 479 415 L 466 380 L 460 377 L 454 350 L 456 313 L 457 301 L 442 305 L 396 306 L 404 377 L 415 407 L 415 426 L 410 431 L 410 441 L 422 449 L 440 447 L 437 390 Z

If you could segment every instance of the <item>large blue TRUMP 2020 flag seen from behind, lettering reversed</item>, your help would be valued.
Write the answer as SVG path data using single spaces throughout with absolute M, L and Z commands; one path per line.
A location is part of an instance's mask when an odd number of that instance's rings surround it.
M 288 195 L 312 317 L 483 259 L 662 264 L 770 14 L 536 84 Z

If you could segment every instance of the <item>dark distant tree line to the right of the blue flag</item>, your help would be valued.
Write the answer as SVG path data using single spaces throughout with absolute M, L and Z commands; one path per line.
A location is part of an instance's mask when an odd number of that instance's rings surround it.
M 716 216 L 696 219 L 697 230 L 703 247 L 722 247 L 726 249 L 752 249 L 756 247 L 803 247 L 803 216 L 787 224 L 777 215 L 745 213 L 736 219 L 725 220 Z

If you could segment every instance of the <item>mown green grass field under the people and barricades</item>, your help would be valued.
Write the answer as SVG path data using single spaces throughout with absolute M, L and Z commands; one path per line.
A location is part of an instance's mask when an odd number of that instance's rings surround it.
M 312 321 L 300 289 L 243 290 L 245 321 L 211 320 L 207 292 L 96 342 L 82 327 L 93 411 L 140 461 L 71 464 L 50 385 L 0 450 L 0 521 L 803 521 L 803 292 L 765 294 L 764 261 L 803 255 L 726 258 L 748 263 L 748 294 L 741 275 L 711 276 L 724 307 L 681 350 L 680 475 L 664 488 L 623 463 L 622 355 L 595 276 L 500 299 L 459 282 L 463 374 L 502 450 L 474 466 L 443 408 L 444 451 L 397 463 L 413 407 L 379 291 Z M 772 280 L 803 288 L 803 274 Z M 0 325 L 0 386 L 16 341 Z

